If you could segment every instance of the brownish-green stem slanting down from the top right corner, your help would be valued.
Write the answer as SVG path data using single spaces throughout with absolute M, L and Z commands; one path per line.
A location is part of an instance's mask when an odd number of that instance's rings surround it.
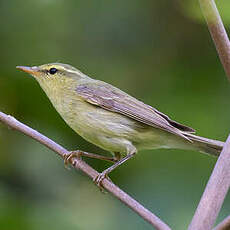
M 230 80 L 230 42 L 214 0 L 199 0 L 224 70 Z

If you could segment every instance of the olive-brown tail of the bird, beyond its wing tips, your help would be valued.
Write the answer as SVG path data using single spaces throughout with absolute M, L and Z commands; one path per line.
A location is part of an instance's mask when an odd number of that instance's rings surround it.
M 190 133 L 186 133 L 185 136 L 192 140 L 191 144 L 193 145 L 193 147 L 195 147 L 195 149 L 200 152 L 208 153 L 214 156 L 219 156 L 224 146 L 224 142 L 222 141 L 211 140 Z

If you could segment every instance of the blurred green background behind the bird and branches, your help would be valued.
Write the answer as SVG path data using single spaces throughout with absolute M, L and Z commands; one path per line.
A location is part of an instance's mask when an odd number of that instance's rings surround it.
M 230 2 L 218 1 L 226 27 Z M 104 151 L 75 134 L 16 65 L 69 63 L 153 105 L 197 134 L 225 140 L 230 84 L 198 1 L 0 0 L 0 110 L 67 149 Z M 87 160 L 99 171 L 109 164 Z M 139 152 L 112 180 L 173 229 L 193 216 L 216 159 Z M 227 196 L 218 221 L 230 211 Z M 52 151 L 0 124 L 0 226 L 7 230 L 152 229 Z

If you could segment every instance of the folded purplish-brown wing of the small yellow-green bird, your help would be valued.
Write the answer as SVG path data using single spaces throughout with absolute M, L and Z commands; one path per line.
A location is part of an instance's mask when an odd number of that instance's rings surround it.
M 78 85 L 77 94 L 85 101 L 103 109 L 120 113 L 146 125 L 163 129 L 187 140 L 184 133 L 193 133 L 194 129 L 171 120 L 167 115 L 144 104 L 134 97 L 105 82 L 95 81 Z

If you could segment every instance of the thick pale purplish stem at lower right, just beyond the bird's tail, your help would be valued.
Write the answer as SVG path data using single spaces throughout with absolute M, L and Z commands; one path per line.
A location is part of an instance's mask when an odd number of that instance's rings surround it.
M 216 162 L 189 230 L 210 230 L 230 186 L 230 135 Z

